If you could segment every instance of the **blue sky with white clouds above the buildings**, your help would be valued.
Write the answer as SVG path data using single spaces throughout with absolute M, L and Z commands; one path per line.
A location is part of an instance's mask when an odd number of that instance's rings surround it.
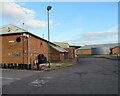
M 13 24 L 47 40 L 70 45 L 118 42 L 117 2 L 12 2 L 0 3 L 0 26 Z M 23 25 L 24 23 L 24 25 Z

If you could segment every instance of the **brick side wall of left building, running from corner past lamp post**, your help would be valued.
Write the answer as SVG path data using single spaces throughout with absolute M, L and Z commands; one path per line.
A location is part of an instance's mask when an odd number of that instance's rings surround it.
M 34 64 L 37 55 L 43 54 L 45 57 L 48 58 L 48 43 L 35 38 L 34 36 L 30 36 L 29 38 L 29 46 L 30 46 L 30 63 Z M 61 55 L 60 52 L 56 51 L 55 49 L 50 47 L 50 61 L 60 61 L 64 60 L 65 55 Z

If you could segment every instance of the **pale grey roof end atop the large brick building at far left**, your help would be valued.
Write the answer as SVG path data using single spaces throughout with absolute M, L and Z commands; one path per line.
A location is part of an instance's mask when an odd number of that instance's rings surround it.
M 25 29 L 19 28 L 12 24 L 0 27 L 0 34 L 12 34 L 12 33 L 23 33 L 28 32 Z

